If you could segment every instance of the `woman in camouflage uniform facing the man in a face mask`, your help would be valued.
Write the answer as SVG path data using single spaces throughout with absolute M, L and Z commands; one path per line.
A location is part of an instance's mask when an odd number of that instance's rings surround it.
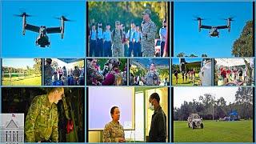
M 112 122 L 106 124 L 103 130 L 103 142 L 126 142 L 125 132 L 122 125 L 118 122 L 120 111 L 117 106 L 110 110 Z

